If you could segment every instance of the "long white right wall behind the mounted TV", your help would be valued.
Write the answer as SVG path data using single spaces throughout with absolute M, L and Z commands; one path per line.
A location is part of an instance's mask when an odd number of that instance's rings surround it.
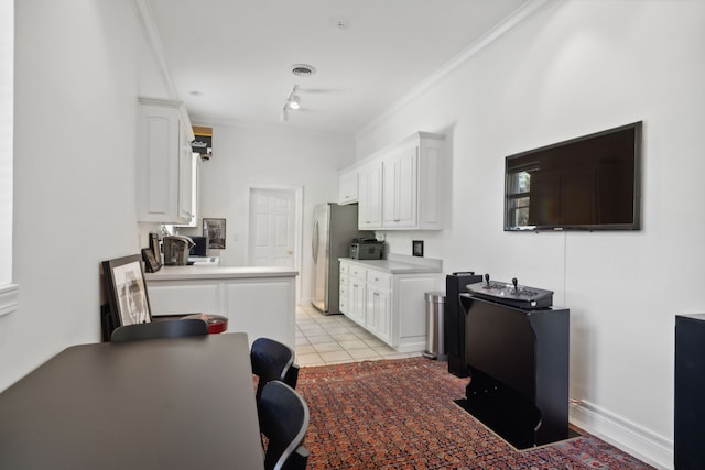
M 672 464 L 674 315 L 705 310 L 705 2 L 570 0 L 522 23 L 358 136 L 358 157 L 446 132 L 452 228 L 425 233 L 446 272 L 555 291 L 571 308 L 573 419 Z M 502 231 L 503 157 L 643 120 L 643 229 Z M 390 233 L 406 253 L 419 234 Z

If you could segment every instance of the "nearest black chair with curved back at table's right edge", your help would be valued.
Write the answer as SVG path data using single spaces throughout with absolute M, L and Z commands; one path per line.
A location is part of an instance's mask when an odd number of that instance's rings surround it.
M 294 389 L 267 383 L 260 397 L 260 430 L 268 438 L 265 470 L 305 469 L 308 450 L 302 446 L 308 428 L 308 406 Z

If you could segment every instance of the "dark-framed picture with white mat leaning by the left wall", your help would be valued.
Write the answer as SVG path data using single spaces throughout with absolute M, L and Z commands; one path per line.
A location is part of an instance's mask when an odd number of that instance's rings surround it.
M 104 261 L 102 273 L 116 327 L 152 320 L 141 255 L 133 254 Z

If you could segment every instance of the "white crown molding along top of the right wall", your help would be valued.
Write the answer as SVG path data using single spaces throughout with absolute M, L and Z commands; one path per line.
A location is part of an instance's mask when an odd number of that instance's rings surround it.
M 462 53 L 456 55 L 449 62 L 447 62 L 443 67 L 438 70 L 434 72 L 431 76 L 425 78 L 419 85 L 416 85 L 410 92 L 404 95 L 401 99 L 399 99 L 395 103 L 389 107 L 386 111 L 382 111 L 377 118 L 375 118 L 370 123 L 365 125 L 355 134 L 355 139 L 360 139 L 366 133 L 370 132 L 375 127 L 379 125 L 381 122 L 387 120 L 390 116 L 398 112 L 400 109 L 409 105 L 412 100 L 417 98 L 425 90 L 431 88 L 433 85 L 441 81 L 444 77 L 449 75 L 456 68 L 468 62 L 475 55 L 484 51 L 490 44 L 492 44 L 498 39 L 502 37 L 505 34 L 509 33 L 511 30 L 517 28 L 520 23 L 525 21 L 527 19 L 546 10 L 553 3 L 557 3 L 558 0 L 529 0 L 527 3 L 521 6 L 517 11 L 507 17 L 501 23 L 487 32 L 482 37 L 477 40 L 475 43 L 466 47 Z

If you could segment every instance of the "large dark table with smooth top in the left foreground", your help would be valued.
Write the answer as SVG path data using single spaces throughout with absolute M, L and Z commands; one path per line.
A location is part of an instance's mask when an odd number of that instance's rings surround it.
M 247 335 L 65 349 L 0 394 L 0 468 L 263 468 Z

